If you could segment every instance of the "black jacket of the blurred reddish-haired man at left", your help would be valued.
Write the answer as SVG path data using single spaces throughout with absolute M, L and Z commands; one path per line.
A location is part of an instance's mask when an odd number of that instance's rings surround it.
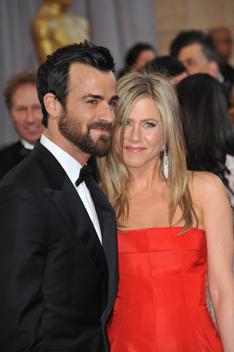
M 5 149 L 0 151 L 0 180 L 6 175 L 6 173 L 19 164 L 31 150 L 25 149 L 25 147 L 19 142 L 9 145 Z

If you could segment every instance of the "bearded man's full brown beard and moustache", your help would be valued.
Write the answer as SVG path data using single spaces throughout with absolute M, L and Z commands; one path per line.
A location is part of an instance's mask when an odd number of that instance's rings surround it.
M 83 132 L 83 123 L 74 118 L 66 108 L 62 110 L 58 129 L 63 137 L 73 143 L 84 153 L 102 157 L 109 152 L 112 143 L 113 126 L 107 122 L 90 122 L 86 125 L 87 132 Z M 101 134 L 97 139 L 93 139 L 90 134 L 91 128 L 108 130 L 108 134 Z

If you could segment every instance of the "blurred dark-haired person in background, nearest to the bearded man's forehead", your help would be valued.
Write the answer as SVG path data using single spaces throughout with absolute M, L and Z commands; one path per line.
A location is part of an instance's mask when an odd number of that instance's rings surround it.
M 157 55 L 155 49 L 145 43 L 134 45 L 127 53 L 123 70 L 119 73 L 122 77 L 131 70 L 137 70 L 151 61 Z

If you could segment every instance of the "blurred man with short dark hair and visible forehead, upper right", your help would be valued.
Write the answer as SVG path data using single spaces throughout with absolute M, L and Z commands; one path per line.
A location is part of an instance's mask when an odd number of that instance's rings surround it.
M 211 37 L 201 31 L 185 31 L 171 43 L 170 53 L 182 62 L 188 75 L 208 73 L 219 82 L 219 57 Z

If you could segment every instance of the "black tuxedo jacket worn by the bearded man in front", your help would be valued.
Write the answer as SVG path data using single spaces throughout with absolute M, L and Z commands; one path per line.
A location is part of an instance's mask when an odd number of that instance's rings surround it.
M 118 288 L 115 213 L 86 183 L 102 232 L 64 169 L 37 141 L 0 182 L 0 350 L 109 351 Z

